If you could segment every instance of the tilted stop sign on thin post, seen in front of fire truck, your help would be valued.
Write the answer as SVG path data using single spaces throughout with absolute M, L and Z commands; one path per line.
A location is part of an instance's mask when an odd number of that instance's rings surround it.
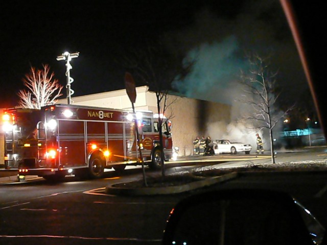
M 136 101 L 135 81 L 134 81 L 132 75 L 129 72 L 125 73 L 125 88 L 126 88 L 126 93 L 127 93 L 128 97 L 129 97 L 129 100 L 132 103 L 132 109 L 133 109 L 133 115 L 134 115 L 134 124 L 135 124 L 135 130 L 136 130 L 136 138 L 137 138 L 136 142 L 137 142 L 137 148 L 138 148 L 139 157 L 140 157 L 139 161 L 141 161 L 141 163 L 142 163 L 144 185 L 148 186 L 147 179 L 146 179 L 146 176 L 145 176 L 144 162 L 143 162 L 143 157 L 142 157 L 142 149 L 141 149 L 140 140 L 139 140 L 137 118 L 135 116 L 135 108 L 134 108 L 134 103 Z

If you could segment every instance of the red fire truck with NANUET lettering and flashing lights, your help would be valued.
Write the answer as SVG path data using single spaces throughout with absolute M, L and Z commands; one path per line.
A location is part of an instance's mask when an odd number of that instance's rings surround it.
M 139 114 L 142 114 L 138 116 Z M 139 146 L 135 130 L 139 126 Z M 101 178 L 105 168 L 124 170 L 128 164 L 158 168 L 161 149 L 172 157 L 171 124 L 162 125 L 152 112 L 132 113 L 99 107 L 52 105 L 37 109 L 8 109 L 3 115 L 5 167 L 20 175 L 57 180 L 66 175 Z

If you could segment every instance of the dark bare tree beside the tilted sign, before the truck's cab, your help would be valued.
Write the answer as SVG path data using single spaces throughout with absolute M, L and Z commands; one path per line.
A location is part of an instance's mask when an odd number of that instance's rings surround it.
M 120 55 L 118 62 L 129 69 L 136 82 L 146 84 L 155 92 L 158 112 L 159 143 L 161 147 L 161 171 L 165 176 L 165 154 L 162 149 L 162 125 L 167 108 L 175 102 L 168 100 L 171 84 L 176 79 L 182 79 L 191 70 L 194 62 L 185 61 L 182 52 L 170 52 L 167 47 L 159 43 L 148 43 L 144 48 L 138 48 Z M 169 101 L 169 102 L 168 102 Z

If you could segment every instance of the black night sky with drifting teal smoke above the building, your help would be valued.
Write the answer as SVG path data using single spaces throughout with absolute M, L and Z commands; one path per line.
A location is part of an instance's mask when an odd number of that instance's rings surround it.
M 49 64 L 65 86 L 65 63 L 56 60 L 65 51 L 80 52 L 71 62 L 73 96 L 123 89 L 126 70 L 115 62 L 116 48 L 142 47 L 163 35 L 198 58 L 189 77 L 174 85 L 190 97 L 231 103 L 245 52 L 257 52 L 273 54 L 281 85 L 297 100 L 308 86 L 279 5 L 276 0 L 6 1 L 0 9 L 0 108 L 17 104 L 30 66 Z

